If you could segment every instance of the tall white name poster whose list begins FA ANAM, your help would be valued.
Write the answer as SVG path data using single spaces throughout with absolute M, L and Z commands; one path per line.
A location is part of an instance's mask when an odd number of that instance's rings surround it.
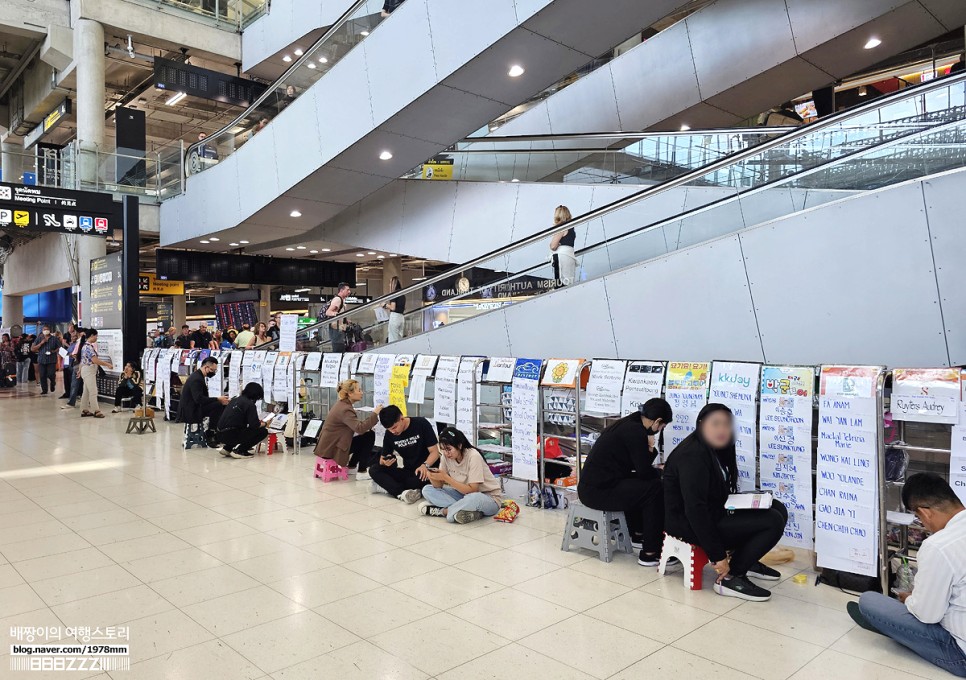
M 818 566 L 875 576 L 878 562 L 876 366 L 823 366 L 818 406 Z

